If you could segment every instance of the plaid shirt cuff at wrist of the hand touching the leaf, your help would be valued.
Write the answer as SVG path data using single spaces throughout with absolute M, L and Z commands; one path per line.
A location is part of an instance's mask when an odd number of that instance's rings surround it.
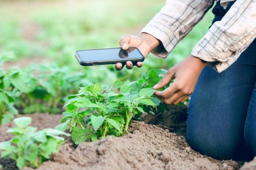
M 203 37 L 198 44 L 196 44 L 191 54 L 206 62 L 211 62 L 209 65 L 218 73 L 227 69 L 236 61 L 231 51 L 225 52 L 218 49 L 205 37 Z

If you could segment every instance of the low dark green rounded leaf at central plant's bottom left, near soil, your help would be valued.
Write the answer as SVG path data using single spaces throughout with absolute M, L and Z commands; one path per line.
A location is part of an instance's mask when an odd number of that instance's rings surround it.
M 72 140 L 75 142 L 76 145 L 81 144 L 82 142 L 86 141 L 90 134 L 88 129 L 82 129 L 80 127 L 75 127 L 72 131 Z

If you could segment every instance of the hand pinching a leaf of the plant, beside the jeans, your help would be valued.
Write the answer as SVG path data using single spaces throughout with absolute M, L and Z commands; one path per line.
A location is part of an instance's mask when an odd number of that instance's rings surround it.
M 177 105 L 178 103 L 184 103 L 193 93 L 201 71 L 208 64 L 190 55 L 168 70 L 167 74 L 153 88 L 163 88 L 175 78 L 173 83 L 163 91 L 156 91 L 154 95 L 166 104 Z

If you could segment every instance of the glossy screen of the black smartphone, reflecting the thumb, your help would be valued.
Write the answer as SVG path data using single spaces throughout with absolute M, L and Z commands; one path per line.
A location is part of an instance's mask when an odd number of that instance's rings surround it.
M 115 61 L 127 59 L 140 59 L 144 56 L 135 47 L 129 47 L 127 50 L 122 48 L 108 49 L 92 49 L 77 51 L 78 58 L 81 62 L 100 62 L 100 61 Z

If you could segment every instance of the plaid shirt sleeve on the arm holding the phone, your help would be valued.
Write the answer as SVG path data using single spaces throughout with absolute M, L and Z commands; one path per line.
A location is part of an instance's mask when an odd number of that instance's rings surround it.
M 213 3 L 214 0 L 167 0 L 161 11 L 141 31 L 161 41 L 151 52 L 166 58 L 203 18 Z

